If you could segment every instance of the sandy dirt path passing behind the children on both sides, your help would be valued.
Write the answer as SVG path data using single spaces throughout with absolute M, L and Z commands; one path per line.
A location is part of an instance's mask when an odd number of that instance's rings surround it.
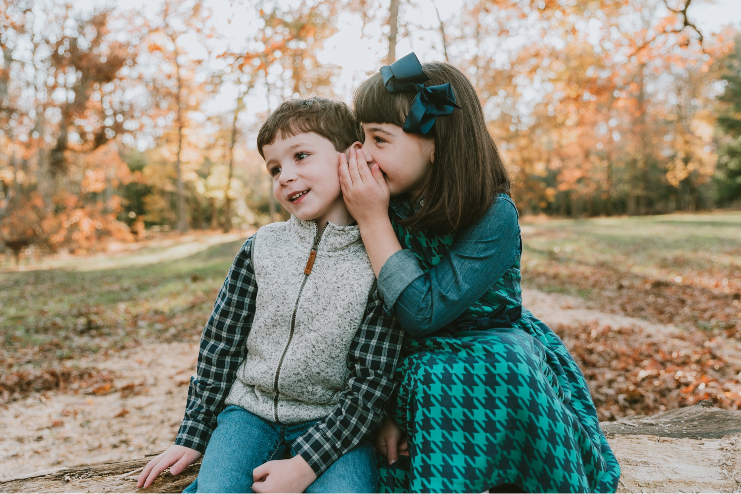
M 656 336 L 673 326 L 589 310 L 573 296 L 523 290 L 523 301 L 546 324 L 599 321 L 636 325 Z M 195 372 L 198 344 L 153 344 L 73 362 L 122 376 L 107 395 L 33 394 L 0 407 L 0 478 L 54 467 L 142 458 L 173 443 Z

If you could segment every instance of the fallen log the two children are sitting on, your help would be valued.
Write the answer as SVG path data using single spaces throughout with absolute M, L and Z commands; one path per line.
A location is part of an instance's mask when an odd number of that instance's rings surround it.
M 741 488 L 741 412 L 696 405 L 601 425 L 622 467 L 619 493 Z M 153 455 L 0 479 L 0 493 L 179 493 L 198 475 L 200 463 L 136 489 L 136 477 Z

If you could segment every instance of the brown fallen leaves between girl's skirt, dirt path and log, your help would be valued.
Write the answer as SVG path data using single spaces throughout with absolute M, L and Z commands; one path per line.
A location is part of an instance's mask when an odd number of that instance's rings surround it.
M 599 420 L 650 415 L 711 400 L 741 407 L 741 342 L 722 334 L 648 335 L 638 327 L 554 328 L 589 383 Z

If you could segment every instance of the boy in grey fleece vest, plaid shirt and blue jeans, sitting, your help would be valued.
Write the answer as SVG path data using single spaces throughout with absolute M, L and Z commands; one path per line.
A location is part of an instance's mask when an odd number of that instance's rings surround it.
M 285 101 L 260 128 L 292 217 L 260 228 L 234 259 L 176 444 L 137 487 L 204 454 L 186 493 L 376 492 L 368 435 L 385 418 L 402 331 L 340 192 L 339 156 L 360 140 L 348 106 L 323 98 Z

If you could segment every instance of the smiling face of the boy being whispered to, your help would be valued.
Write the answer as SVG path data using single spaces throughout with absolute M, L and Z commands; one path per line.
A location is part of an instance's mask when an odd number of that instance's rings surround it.
M 273 194 L 293 216 L 334 220 L 333 211 L 345 209 L 337 173 L 340 153 L 330 141 L 313 132 L 278 137 L 262 153 Z

